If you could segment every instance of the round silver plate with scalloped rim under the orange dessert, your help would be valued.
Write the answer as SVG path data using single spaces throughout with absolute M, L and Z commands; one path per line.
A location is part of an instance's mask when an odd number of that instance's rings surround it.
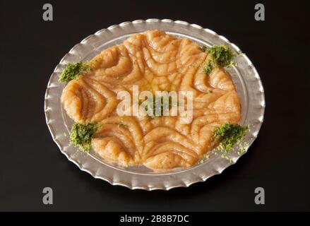
M 251 129 L 245 138 L 249 145 L 247 145 L 243 153 L 238 153 L 237 148 L 234 148 L 223 157 L 223 155 L 213 151 L 208 159 L 203 160 L 203 163 L 200 161 L 189 169 L 174 169 L 169 172 L 155 173 L 146 167 L 124 169 L 117 165 L 110 165 L 93 152 L 85 154 L 79 151 L 78 148 L 69 145 L 68 133 L 73 121 L 68 118 L 61 106 L 60 97 L 64 84 L 58 82 L 59 75 L 66 67 L 66 64 L 88 61 L 99 54 L 102 49 L 111 47 L 114 44 L 120 44 L 134 33 L 155 29 L 164 30 L 177 37 L 188 37 L 201 45 L 227 44 L 235 52 L 240 53 L 239 57 L 235 58 L 237 66 L 233 66 L 227 71 L 232 75 L 232 80 L 241 99 L 242 119 L 240 124 L 251 125 Z M 225 37 L 217 35 L 212 30 L 184 21 L 168 19 L 124 22 L 99 30 L 94 35 L 86 37 L 81 43 L 76 44 L 56 66 L 47 84 L 44 100 L 44 112 L 49 131 L 61 153 L 64 153 L 68 160 L 74 162 L 81 170 L 90 173 L 93 177 L 103 179 L 110 184 L 126 186 L 129 189 L 145 190 L 169 190 L 179 186 L 189 186 L 196 182 L 203 182 L 215 174 L 220 174 L 229 165 L 237 162 L 258 136 L 258 131 L 263 122 L 264 109 L 265 97 L 261 78 L 258 76 L 254 65 L 246 57 L 246 54 L 242 53 L 235 44 L 229 42 Z

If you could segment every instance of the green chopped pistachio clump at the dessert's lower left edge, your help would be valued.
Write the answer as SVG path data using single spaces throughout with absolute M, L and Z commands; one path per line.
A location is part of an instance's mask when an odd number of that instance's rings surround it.
M 85 153 L 88 153 L 90 151 L 92 136 L 99 127 L 99 124 L 73 124 L 70 131 L 70 144 L 76 145 Z

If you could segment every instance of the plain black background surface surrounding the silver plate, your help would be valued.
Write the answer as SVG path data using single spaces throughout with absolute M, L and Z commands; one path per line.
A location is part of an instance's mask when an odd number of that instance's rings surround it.
M 279 4 L 277 4 L 279 2 Z M 54 6 L 54 21 L 42 6 Z M 266 21 L 254 20 L 263 3 Z M 310 210 L 309 14 L 302 1 L 0 1 L 0 210 Z M 256 66 L 265 121 L 237 165 L 171 191 L 131 191 L 82 172 L 61 154 L 44 118 L 44 92 L 73 45 L 124 21 L 170 18 L 224 35 Z M 54 190 L 44 206 L 42 189 Z M 266 204 L 254 203 L 254 189 Z

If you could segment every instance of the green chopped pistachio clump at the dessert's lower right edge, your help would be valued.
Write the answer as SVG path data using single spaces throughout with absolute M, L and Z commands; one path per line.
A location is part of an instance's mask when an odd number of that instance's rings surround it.
M 220 145 L 226 152 L 232 150 L 234 145 L 242 141 L 246 135 L 249 126 L 240 126 L 238 124 L 225 123 L 220 128 L 213 131 L 213 140 L 221 141 Z

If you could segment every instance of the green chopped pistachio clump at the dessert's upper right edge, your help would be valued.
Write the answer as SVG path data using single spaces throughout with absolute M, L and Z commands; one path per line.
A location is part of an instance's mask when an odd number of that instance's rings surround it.
M 225 66 L 231 67 L 234 65 L 234 57 L 237 55 L 232 52 L 226 45 L 213 45 L 206 49 L 210 55 L 210 61 L 205 65 L 203 71 L 210 74 L 216 67 L 223 68 Z

